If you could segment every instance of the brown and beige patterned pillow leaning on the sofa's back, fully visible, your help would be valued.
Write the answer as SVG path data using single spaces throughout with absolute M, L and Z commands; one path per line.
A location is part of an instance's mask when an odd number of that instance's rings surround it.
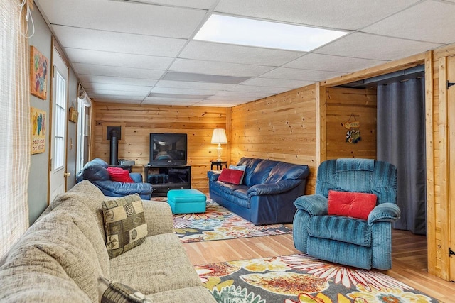
M 103 201 L 102 211 L 109 258 L 115 258 L 145 241 L 147 224 L 139 194 Z

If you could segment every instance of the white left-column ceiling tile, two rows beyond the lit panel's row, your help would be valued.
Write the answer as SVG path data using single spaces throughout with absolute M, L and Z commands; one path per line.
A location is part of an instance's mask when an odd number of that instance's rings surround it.
M 146 55 L 132 55 L 99 50 L 80 50 L 65 48 L 71 62 L 95 65 L 109 65 L 119 67 L 149 68 L 151 70 L 166 70 L 172 62 L 171 57 L 154 57 Z

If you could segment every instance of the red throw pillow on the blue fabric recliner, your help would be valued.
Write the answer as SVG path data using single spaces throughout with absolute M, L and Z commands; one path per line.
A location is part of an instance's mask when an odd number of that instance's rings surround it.
M 366 220 L 368 214 L 375 208 L 377 199 L 375 194 L 329 190 L 328 214 Z

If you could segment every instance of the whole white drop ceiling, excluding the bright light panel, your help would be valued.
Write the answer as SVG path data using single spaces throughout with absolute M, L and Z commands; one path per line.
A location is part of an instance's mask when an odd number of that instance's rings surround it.
M 455 0 L 35 0 L 93 101 L 235 106 L 455 43 Z M 213 13 L 348 31 L 311 52 L 194 40 Z

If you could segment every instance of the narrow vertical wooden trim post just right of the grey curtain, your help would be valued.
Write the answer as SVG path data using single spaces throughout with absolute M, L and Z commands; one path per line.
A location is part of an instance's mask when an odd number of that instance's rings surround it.
M 436 274 L 436 197 L 434 194 L 433 52 L 425 57 L 425 147 L 427 150 L 427 267 Z

